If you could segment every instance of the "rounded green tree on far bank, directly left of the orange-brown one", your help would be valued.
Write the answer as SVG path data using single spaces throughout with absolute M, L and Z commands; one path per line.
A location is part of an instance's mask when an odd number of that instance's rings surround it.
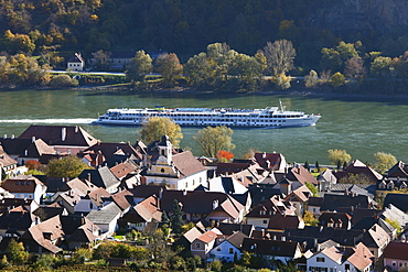
M 153 69 L 152 59 L 144 51 L 138 51 L 136 56 L 130 59 L 129 69 L 126 76 L 132 81 L 144 81 L 146 75 Z

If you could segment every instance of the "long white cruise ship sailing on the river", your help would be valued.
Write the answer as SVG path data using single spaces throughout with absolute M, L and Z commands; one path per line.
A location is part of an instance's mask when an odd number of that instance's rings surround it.
M 174 108 L 162 106 L 146 109 L 109 109 L 95 120 L 94 124 L 141 126 L 152 117 L 168 117 L 182 127 L 233 128 L 286 128 L 314 126 L 320 115 L 307 115 L 301 111 L 287 111 L 280 107 L 265 109 L 232 108 Z

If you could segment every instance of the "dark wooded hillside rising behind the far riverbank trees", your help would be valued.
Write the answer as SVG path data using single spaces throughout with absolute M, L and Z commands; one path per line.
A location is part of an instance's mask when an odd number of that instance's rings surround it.
M 176 53 L 181 59 L 214 42 L 255 54 L 287 39 L 298 65 L 313 67 L 340 40 L 396 56 L 408 41 L 407 0 L 1 0 L 0 33 L 28 34 L 33 54 L 98 50 Z M 9 33 L 10 34 L 10 33 Z M 0 51 L 15 53 L 7 44 Z M 31 47 L 31 48 L 32 48 Z

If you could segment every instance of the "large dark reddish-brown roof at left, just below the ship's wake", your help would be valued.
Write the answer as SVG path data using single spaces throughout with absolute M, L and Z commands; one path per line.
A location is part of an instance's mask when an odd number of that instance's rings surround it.
M 31 124 L 20 138 L 42 139 L 49 145 L 92 146 L 97 139 L 78 126 L 39 126 Z

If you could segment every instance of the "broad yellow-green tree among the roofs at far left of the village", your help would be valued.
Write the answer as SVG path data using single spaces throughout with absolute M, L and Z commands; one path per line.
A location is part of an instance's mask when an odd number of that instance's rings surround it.
M 53 177 L 77 177 L 84 170 L 92 168 L 77 156 L 53 159 L 46 166 L 45 174 Z

